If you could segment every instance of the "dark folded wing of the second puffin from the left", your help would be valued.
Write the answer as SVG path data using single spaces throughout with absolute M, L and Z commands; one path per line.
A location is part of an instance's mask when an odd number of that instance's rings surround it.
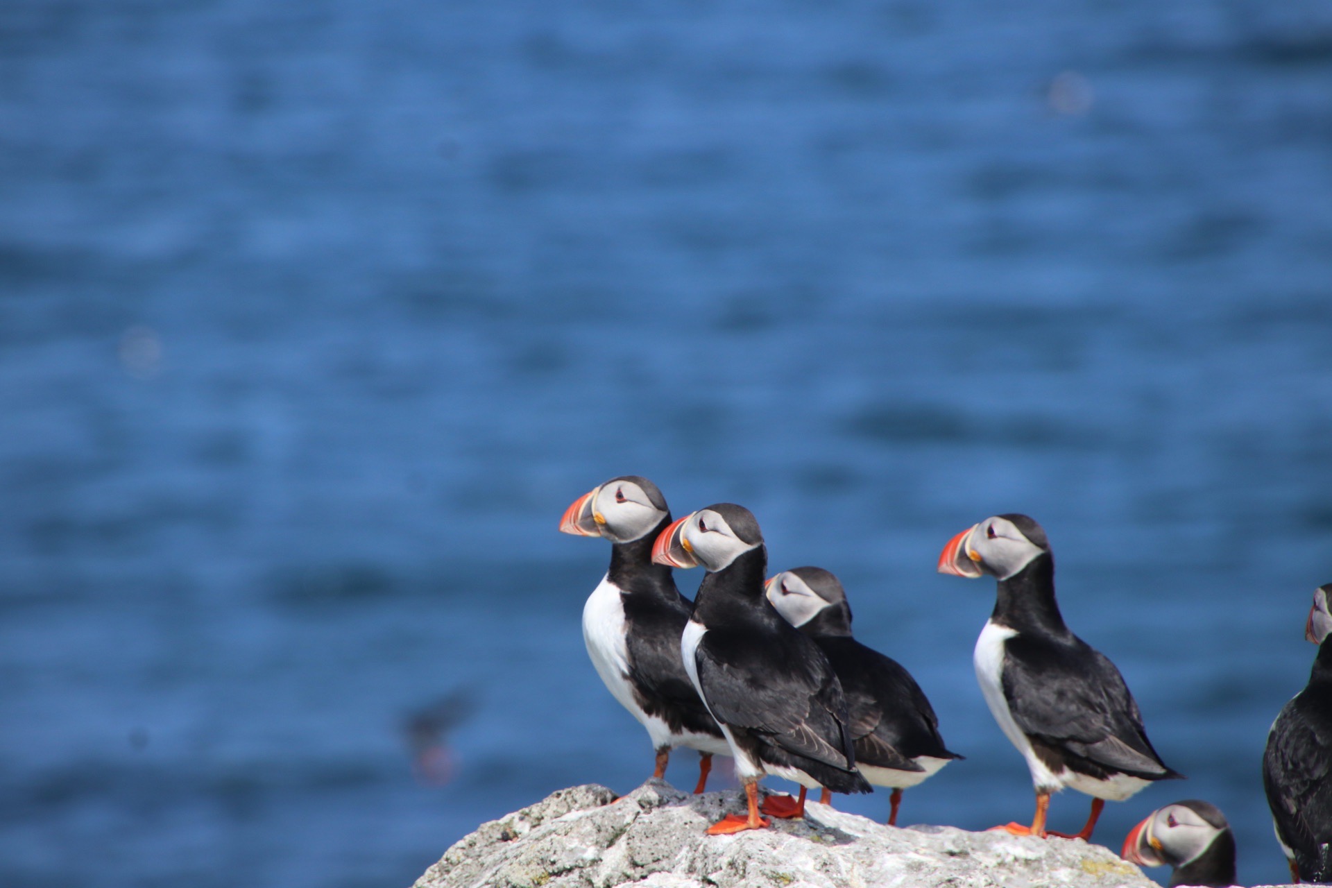
M 755 638 L 709 630 L 699 642 L 698 682 L 713 715 L 787 752 L 838 770 L 854 767 L 846 702 L 823 654 L 795 630 L 765 632 L 762 643 Z

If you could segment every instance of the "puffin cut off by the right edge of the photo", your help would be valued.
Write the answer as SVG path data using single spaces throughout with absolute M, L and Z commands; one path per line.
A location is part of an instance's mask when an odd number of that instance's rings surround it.
M 1276 716 L 1263 788 L 1291 880 L 1332 881 L 1332 583 L 1313 592 L 1304 638 L 1319 646 L 1309 683 Z

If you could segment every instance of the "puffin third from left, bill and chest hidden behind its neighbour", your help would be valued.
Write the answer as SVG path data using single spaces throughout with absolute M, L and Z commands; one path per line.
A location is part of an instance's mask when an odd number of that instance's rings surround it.
M 832 572 L 795 567 L 769 579 L 766 591 L 777 612 L 814 639 L 832 664 L 846 696 L 855 768 L 892 789 L 888 825 L 895 827 L 902 791 L 963 756 L 943 746 L 939 719 L 911 674 L 851 636 L 851 606 Z M 819 801 L 829 804 L 831 796 L 825 788 Z

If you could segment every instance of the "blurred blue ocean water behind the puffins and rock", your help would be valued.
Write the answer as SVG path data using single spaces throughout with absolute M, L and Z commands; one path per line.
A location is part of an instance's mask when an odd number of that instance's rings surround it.
M 0 429 L 7 888 L 409 885 L 637 785 L 578 628 L 609 549 L 555 531 L 622 473 L 842 576 L 968 756 L 904 823 L 1031 815 L 992 583 L 934 570 L 1036 517 L 1189 776 L 1098 840 L 1203 797 L 1281 881 L 1332 5 L 5 0 Z M 404 722 L 460 690 L 422 781 Z

